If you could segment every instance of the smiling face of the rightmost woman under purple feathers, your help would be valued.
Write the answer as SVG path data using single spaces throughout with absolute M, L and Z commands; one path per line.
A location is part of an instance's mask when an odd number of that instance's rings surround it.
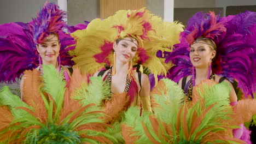
M 190 46 L 189 57 L 195 68 L 207 68 L 216 55 L 216 51 L 212 50 L 210 45 L 203 43 L 194 43 Z

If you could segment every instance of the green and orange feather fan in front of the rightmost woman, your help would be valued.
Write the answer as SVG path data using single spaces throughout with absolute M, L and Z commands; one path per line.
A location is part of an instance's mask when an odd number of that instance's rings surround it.
M 137 107 L 125 112 L 122 132 L 127 143 L 245 143 L 232 137 L 232 129 L 256 112 L 255 100 L 232 107 L 229 84 L 207 80 L 195 87 L 193 101 L 182 103 L 184 93 L 176 83 L 162 79 L 159 84 L 152 95 L 158 104 L 154 115 L 139 117 Z M 238 117 L 245 109 L 249 113 Z

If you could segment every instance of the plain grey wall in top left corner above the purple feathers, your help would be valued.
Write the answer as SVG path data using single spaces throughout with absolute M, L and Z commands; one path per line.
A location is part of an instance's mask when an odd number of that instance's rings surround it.
M 46 0 L 4 0 L 0 4 L 0 24 L 28 22 L 35 17 Z M 48 0 L 57 3 L 57 0 Z

